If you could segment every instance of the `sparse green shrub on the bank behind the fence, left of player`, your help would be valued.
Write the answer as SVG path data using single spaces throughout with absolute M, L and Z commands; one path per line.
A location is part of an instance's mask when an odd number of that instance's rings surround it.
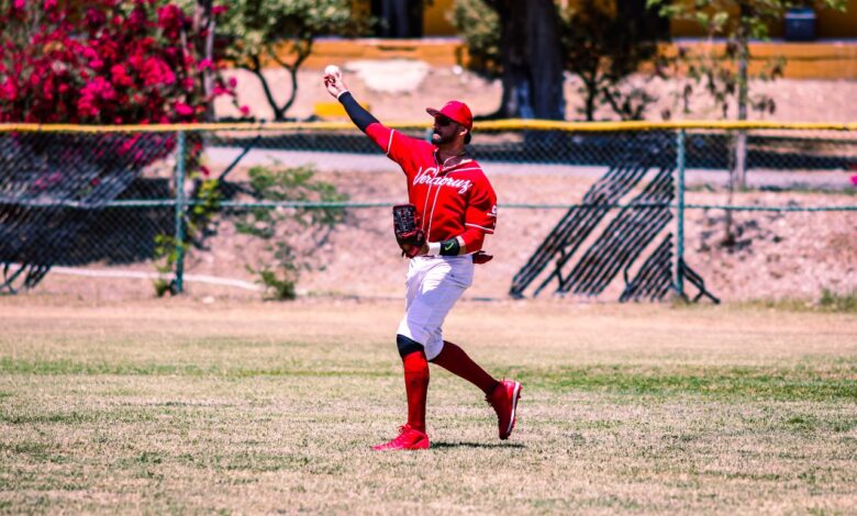
M 249 170 L 253 197 L 267 202 L 344 202 L 348 195 L 336 186 L 316 179 L 311 166 Z M 265 263 L 247 265 L 258 276 L 266 294 L 275 300 L 294 299 L 302 271 L 320 268 L 318 248 L 345 218 L 342 207 L 255 207 L 238 217 L 238 233 L 267 243 Z

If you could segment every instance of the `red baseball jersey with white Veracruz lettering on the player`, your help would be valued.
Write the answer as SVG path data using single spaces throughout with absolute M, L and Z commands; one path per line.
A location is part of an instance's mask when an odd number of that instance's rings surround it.
M 437 161 L 436 146 L 379 123 L 369 124 L 366 134 L 402 167 L 408 198 L 416 206 L 426 240 L 443 242 L 471 231 L 494 232 L 497 194 L 479 164 L 464 159 L 444 168 Z M 467 248 L 468 253 L 477 250 Z

